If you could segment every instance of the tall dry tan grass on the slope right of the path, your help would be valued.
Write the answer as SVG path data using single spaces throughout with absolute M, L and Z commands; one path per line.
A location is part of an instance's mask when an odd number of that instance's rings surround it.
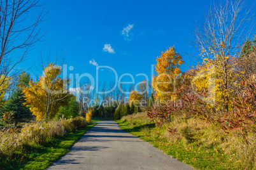
M 131 125 L 150 123 L 145 112 L 127 115 L 122 121 L 128 121 Z M 176 129 L 176 132 L 170 133 L 167 131 L 168 128 Z M 147 129 L 143 129 L 145 130 Z M 217 148 L 228 155 L 229 160 L 240 162 L 245 169 L 256 169 L 256 134 L 253 131 L 246 136 L 250 141 L 248 145 L 238 131 L 227 134 L 218 127 L 218 124 L 208 124 L 206 121 L 194 118 L 183 119 L 182 116 L 176 115 L 172 117 L 171 122 L 166 122 L 156 131 L 151 132 L 152 136 L 157 136 L 159 133 L 170 143 L 182 143 L 185 148 L 196 146 L 198 152 Z

